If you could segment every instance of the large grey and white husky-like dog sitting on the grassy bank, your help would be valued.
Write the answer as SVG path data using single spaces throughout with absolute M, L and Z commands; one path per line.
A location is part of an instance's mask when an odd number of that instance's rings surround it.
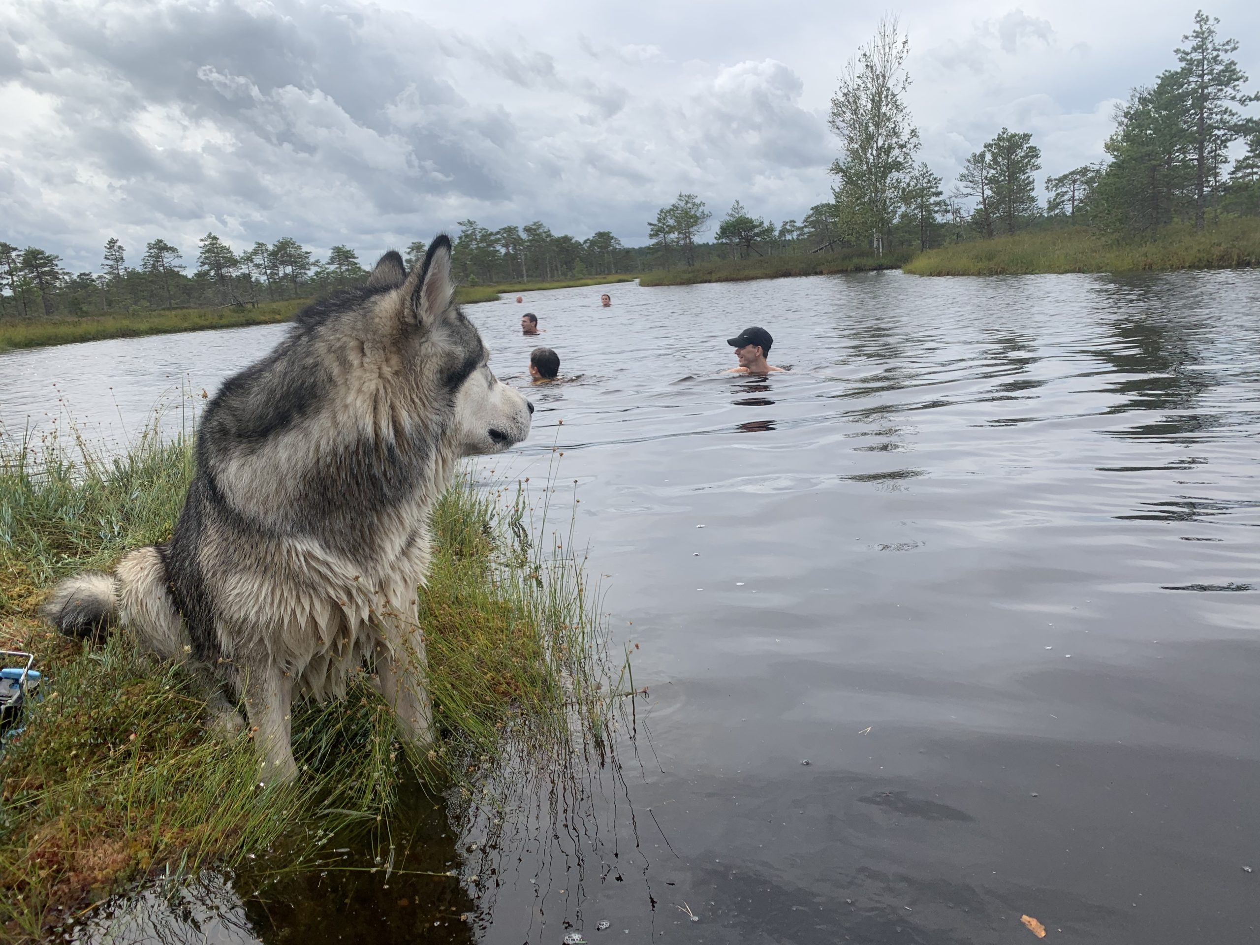
M 450 239 L 410 275 L 386 253 L 365 287 L 304 309 L 223 383 L 170 542 L 62 581 L 44 616 L 81 638 L 117 620 L 186 660 L 223 724 L 239 726 L 229 701 L 243 699 L 267 780 L 297 774 L 294 699 L 344 694 L 365 660 L 426 745 L 430 512 L 461 456 L 524 440 L 534 410 L 488 360 L 455 305 Z

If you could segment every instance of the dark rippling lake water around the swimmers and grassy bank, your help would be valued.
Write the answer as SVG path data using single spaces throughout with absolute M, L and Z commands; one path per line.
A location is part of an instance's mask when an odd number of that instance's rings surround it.
M 466 310 L 500 377 L 536 344 L 576 375 L 496 472 L 563 450 L 649 687 L 582 835 L 523 827 L 480 898 L 208 877 L 91 936 L 1260 940 L 1260 272 L 600 291 Z M 719 374 L 750 324 L 789 373 Z M 117 441 L 282 331 L 6 354 L 0 416 Z M 478 868 L 411 824 L 421 868 Z

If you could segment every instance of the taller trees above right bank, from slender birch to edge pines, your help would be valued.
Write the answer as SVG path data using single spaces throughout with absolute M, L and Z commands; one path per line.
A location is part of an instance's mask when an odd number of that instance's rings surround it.
M 1106 159 L 1045 180 L 1029 132 L 1003 127 L 971 154 L 949 195 L 922 161 L 919 130 L 905 103 L 908 39 L 883 20 L 858 50 L 832 98 L 829 125 L 842 154 L 830 171 L 837 239 L 879 253 L 992 239 L 1036 227 L 1074 224 L 1091 232 L 1152 239 L 1169 224 L 1203 229 L 1222 215 L 1260 214 L 1260 118 L 1239 110 L 1260 96 L 1202 10 L 1174 50 L 1177 64 L 1139 86 L 1116 108 Z M 1230 159 L 1237 141 L 1244 154 Z M 816 209 L 816 208 L 815 208 Z

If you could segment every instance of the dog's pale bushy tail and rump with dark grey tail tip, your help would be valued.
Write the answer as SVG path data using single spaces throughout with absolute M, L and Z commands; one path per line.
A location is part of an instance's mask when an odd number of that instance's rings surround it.
M 67 577 L 40 611 L 67 636 L 102 640 L 115 624 L 163 659 L 181 659 L 188 648 L 184 622 L 175 610 L 158 548 L 123 556 L 112 575 L 88 571 Z

